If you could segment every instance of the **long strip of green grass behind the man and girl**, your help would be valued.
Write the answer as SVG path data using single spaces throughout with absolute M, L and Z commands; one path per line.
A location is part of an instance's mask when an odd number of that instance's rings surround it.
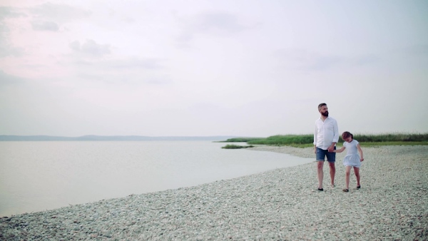
M 358 140 L 362 146 L 428 145 L 428 133 L 355 134 L 354 139 Z M 308 134 L 272 135 L 267 138 L 232 138 L 224 142 L 246 142 L 249 145 L 290 145 L 303 148 L 313 146 L 313 140 L 314 136 Z M 339 138 L 339 143 L 342 142 L 342 138 Z

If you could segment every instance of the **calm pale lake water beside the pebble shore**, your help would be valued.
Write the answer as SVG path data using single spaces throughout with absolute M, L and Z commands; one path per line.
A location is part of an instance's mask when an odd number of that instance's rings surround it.
M 311 158 L 210 141 L 0 142 L 0 216 L 237 178 Z

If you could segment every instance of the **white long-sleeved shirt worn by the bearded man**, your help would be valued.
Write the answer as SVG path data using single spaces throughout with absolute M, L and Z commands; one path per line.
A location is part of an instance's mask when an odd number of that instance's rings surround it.
M 339 128 L 337 121 L 330 116 L 324 121 L 321 118 L 315 120 L 314 145 L 322 150 L 327 150 L 332 143 L 339 140 Z

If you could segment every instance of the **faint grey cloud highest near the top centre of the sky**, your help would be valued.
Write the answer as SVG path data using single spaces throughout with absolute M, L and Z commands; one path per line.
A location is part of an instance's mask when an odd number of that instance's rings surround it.
M 209 12 L 197 14 L 188 18 L 179 18 L 182 25 L 178 42 L 186 44 L 191 41 L 196 34 L 208 34 L 213 36 L 228 36 L 245 29 L 239 23 L 238 17 L 228 12 Z

